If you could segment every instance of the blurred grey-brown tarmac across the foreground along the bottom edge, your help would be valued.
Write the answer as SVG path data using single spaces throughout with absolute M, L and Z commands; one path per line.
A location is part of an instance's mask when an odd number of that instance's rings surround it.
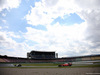
M 95 68 L 0 68 L 0 75 L 100 75 Z

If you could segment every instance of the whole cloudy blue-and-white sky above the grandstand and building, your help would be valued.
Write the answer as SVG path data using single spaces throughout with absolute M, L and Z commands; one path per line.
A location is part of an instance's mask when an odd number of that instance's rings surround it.
M 100 54 L 100 0 L 0 0 L 0 55 Z

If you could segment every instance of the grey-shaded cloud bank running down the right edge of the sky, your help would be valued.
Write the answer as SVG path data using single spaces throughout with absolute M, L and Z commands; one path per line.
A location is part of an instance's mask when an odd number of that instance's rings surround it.
M 82 9 L 78 12 L 78 15 L 87 22 L 86 40 L 91 43 L 90 49 L 95 52 L 99 52 L 100 48 L 100 1 L 99 0 L 87 0 L 77 1 L 78 6 Z M 97 50 L 97 51 L 95 51 Z

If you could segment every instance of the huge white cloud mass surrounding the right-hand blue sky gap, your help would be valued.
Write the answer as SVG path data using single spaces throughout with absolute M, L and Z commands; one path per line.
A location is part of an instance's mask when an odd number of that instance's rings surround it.
M 38 44 L 34 49 L 57 50 L 61 56 L 100 53 L 100 5 L 99 0 L 42 0 L 25 16 L 31 25 L 45 25 L 47 31 L 27 27 L 25 39 Z M 53 24 L 57 17 L 76 13 L 85 22 L 65 26 Z M 29 37 L 28 37 L 29 36 Z M 64 54 L 64 55 L 62 55 Z

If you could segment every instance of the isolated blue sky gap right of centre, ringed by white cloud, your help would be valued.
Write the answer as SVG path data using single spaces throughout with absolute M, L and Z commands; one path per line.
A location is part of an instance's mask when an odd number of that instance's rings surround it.
M 54 20 L 53 23 L 59 22 L 61 25 L 73 25 L 73 24 L 80 24 L 84 22 L 76 13 L 71 13 L 70 15 L 64 15 L 64 19 L 58 17 Z

